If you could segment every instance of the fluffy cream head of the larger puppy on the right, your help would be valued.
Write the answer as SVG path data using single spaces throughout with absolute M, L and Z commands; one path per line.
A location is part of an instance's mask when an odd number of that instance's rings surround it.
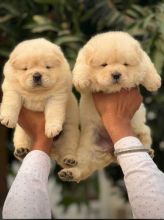
M 74 68 L 78 90 L 116 92 L 144 81 L 148 65 L 139 43 L 125 32 L 96 35 L 81 49 Z

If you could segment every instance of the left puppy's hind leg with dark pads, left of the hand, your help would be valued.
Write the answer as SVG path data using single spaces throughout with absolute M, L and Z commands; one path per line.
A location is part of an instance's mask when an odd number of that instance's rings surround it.
M 17 124 L 14 133 L 14 156 L 23 160 L 23 158 L 29 153 L 32 145 L 31 138 L 25 133 L 25 131 Z

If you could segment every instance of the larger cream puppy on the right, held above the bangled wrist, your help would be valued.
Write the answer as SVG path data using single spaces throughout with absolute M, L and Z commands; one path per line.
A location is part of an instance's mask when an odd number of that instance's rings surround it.
M 117 31 L 91 38 L 78 54 L 73 75 L 74 85 L 81 92 L 78 165 L 61 170 L 59 177 L 65 181 L 79 182 L 116 161 L 110 153 L 112 143 L 96 111 L 91 93 L 112 93 L 140 84 L 148 91 L 156 91 L 161 79 L 140 44 L 128 33 Z M 145 113 L 145 107 L 141 104 L 131 124 L 145 148 L 153 153 Z

